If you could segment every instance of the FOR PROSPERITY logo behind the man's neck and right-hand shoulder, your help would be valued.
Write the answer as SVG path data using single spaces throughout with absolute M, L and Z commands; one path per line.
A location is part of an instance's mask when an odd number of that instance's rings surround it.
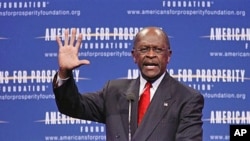
M 244 83 L 245 80 L 250 78 L 245 77 L 244 69 L 168 69 L 168 73 L 176 78 L 178 81 L 185 82 L 188 86 L 193 87 L 196 90 L 210 91 L 214 88 L 215 83 Z M 125 79 L 136 79 L 140 74 L 138 69 L 128 69 L 127 77 L 121 77 Z M 205 97 L 215 97 L 210 93 L 205 93 Z M 220 97 L 220 95 L 217 97 Z M 225 96 L 224 96 L 225 97 Z M 241 95 L 237 98 L 244 98 Z

